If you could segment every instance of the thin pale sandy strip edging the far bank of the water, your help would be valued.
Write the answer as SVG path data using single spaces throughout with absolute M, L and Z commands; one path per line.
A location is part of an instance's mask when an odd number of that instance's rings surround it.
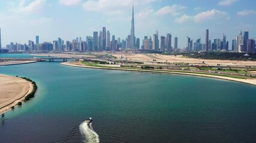
M 230 81 L 233 81 L 233 82 L 246 83 L 246 84 L 249 84 L 249 85 L 256 86 L 256 79 L 236 79 L 236 78 L 233 78 L 233 77 L 215 76 L 215 75 L 210 75 L 210 74 L 184 73 L 184 72 L 176 72 L 176 71 L 122 69 L 122 68 L 115 68 L 115 67 L 93 67 L 93 66 L 86 66 L 86 65 L 82 66 L 82 65 L 71 64 L 70 62 L 65 62 L 65 63 L 61 63 L 61 64 L 64 65 L 64 66 L 83 67 L 83 68 L 90 68 L 90 69 L 140 71 L 140 72 L 149 72 L 149 73 L 166 73 L 166 74 L 180 74 L 180 75 L 186 75 L 186 76 L 209 77 L 209 78 L 213 78 L 213 79 L 230 80 Z

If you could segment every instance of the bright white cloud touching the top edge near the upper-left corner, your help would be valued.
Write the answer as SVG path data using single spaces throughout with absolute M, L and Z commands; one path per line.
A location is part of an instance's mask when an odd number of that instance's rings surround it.
M 20 0 L 18 7 L 11 8 L 11 11 L 14 13 L 25 13 L 32 14 L 41 11 L 44 5 L 46 4 L 46 0 L 35 0 L 28 5 L 25 5 L 26 0 Z

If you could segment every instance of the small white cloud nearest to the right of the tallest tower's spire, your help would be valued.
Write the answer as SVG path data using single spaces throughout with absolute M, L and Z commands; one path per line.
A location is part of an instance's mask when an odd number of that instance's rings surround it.
M 158 15 L 165 15 L 165 14 L 171 14 L 171 15 L 179 15 L 179 11 L 180 10 L 184 10 L 186 9 L 186 7 L 182 6 L 182 5 L 172 5 L 172 6 L 166 6 L 161 8 L 160 10 L 156 11 L 156 14 Z

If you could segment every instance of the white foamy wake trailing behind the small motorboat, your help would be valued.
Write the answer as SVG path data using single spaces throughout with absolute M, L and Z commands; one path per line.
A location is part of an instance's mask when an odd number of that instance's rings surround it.
M 98 143 L 100 142 L 99 135 L 92 129 L 92 123 L 83 122 L 79 126 L 80 132 L 83 136 L 83 142 Z

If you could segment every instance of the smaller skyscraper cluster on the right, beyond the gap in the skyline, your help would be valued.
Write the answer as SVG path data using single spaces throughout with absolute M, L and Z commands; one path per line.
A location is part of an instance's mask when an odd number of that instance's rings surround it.
M 194 44 L 191 38 L 188 37 L 186 46 L 187 51 L 230 51 L 228 48 L 227 36 L 215 38 L 213 42 L 209 39 L 209 29 L 206 29 L 205 43 L 201 43 L 201 38 L 197 39 Z M 235 39 L 232 40 L 231 51 L 236 52 L 256 52 L 255 39 L 249 39 L 249 31 L 240 32 Z

